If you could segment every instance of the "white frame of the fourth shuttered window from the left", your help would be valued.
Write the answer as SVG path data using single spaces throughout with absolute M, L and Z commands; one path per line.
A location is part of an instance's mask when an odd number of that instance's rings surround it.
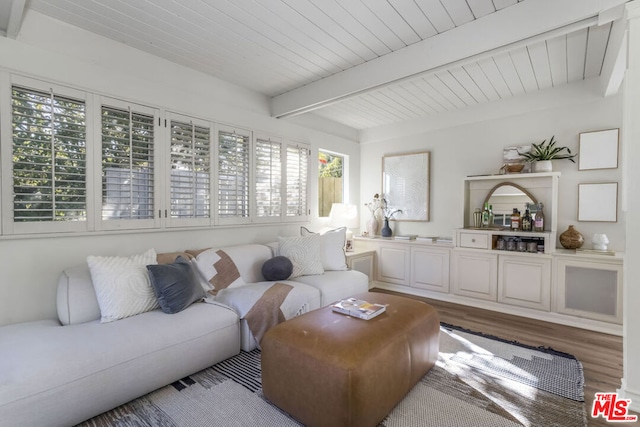
M 241 136 L 245 136 L 248 138 L 248 171 L 247 171 L 247 180 L 248 180 L 248 204 L 247 207 L 247 216 L 233 216 L 233 217 L 223 217 L 220 215 L 220 132 L 226 133 L 236 133 Z M 227 125 L 218 125 L 216 126 L 215 133 L 215 223 L 218 225 L 242 225 L 242 224 L 250 224 L 253 221 L 253 205 L 255 205 L 255 190 L 254 190 L 254 173 L 252 171 L 254 163 L 254 153 L 253 153 L 253 132 L 241 127 L 227 126 Z

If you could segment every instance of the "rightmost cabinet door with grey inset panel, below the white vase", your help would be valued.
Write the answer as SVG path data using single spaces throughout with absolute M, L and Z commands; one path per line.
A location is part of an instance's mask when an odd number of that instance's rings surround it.
M 557 259 L 556 311 L 622 323 L 622 264 Z

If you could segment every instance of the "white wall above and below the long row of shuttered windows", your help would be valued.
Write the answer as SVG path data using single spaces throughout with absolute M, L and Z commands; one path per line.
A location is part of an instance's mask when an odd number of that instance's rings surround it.
M 351 200 L 359 194 L 359 145 L 343 129 L 320 132 L 275 120 L 268 99 L 237 86 L 164 61 L 128 46 L 50 19 L 27 8 L 17 40 L 0 37 L 0 72 L 16 72 L 132 102 L 270 132 L 349 156 Z M 2 99 L 0 108 L 10 108 Z M 346 137 L 345 137 L 346 136 Z M 317 216 L 317 168 L 311 163 L 312 227 Z M 3 179 L 8 179 L 2 171 Z M 63 268 L 89 254 L 131 254 L 268 242 L 298 233 L 299 225 L 245 226 L 200 231 L 156 231 L 50 238 L 0 236 L 0 325 L 55 318 L 55 289 Z

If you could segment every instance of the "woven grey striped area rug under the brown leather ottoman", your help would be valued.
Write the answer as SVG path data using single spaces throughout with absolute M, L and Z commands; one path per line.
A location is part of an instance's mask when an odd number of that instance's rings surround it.
M 260 351 L 241 352 L 81 426 L 300 426 L 260 375 Z M 436 366 L 380 426 L 585 426 L 583 386 L 571 355 L 443 325 Z

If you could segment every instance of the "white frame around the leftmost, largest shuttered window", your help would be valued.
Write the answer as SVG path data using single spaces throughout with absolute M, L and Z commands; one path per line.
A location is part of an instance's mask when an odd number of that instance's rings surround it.
M 88 178 L 93 173 L 91 165 L 93 147 L 90 143 L 92 132 L 92 116 L 94 110 L 90 102 L 90 96 L 77 89 L 63 85 L 43 82 L 36 79 L 10 75 L 3 72 L 0 79 L 0 99 L 4 100 L 1 110 L 3 114 L 0 119 L 0 156 L 2 157 L 2 234 L 39 234 L 39 233 L 71 233 L 84 232 L 91 227 L 91 200 L 92 192 L 90 185 L 85 186 L 85 208 L 87 211 L 86 220 L 83 221 L 28 221 L 15 222 L 13 212 L 13 101 L 12 88 L 20 86 L 34 91 L 53 92 L 62 97 L 77 99 L 85 104 L 85 177 Z M 87 179 L 88 181 L 88 179 Z

